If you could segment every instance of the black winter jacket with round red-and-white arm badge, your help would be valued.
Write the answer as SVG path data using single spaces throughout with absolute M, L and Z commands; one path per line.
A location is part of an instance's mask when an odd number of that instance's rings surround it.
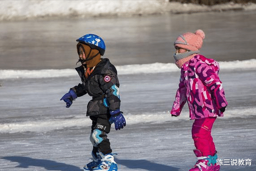
M 77 67 L 82 83 L 72 89 L 78 97 L 88 93 L 92 100 L 87 104 L 86 116 L 108 114 L 109 110 L 120 108 L 119 81 L 116 68 L 109 62 L 108 58 L 101 58 L 91 75 L 85 77 L 83 66 Z M 104 103 L 105 101 L 105 103 Z

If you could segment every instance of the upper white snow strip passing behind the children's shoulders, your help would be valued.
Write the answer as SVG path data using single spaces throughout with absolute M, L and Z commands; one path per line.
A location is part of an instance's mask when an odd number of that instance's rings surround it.
M 219 62 L 223 70 L 248 70 L 256 68 L 256 59 L 244 61 Z M 177 72 L 178 67 L 174 63 L 151 63 L 116 66 L 118 75 Z M 16 78 L 55 78 L 77 75 L 74 69 L 44 69 L 44 70 L 0 70 L 0 79 Z

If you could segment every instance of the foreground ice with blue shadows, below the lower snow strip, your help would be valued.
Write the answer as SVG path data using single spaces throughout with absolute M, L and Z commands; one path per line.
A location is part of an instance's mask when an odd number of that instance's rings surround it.
M 218 119 L 213 138 L 221 159 L 251 159 L 251 166 L 221 166 L 222 171 L 256 168 L 255 119 Z M 196 158 L 191 121 L 127 125 L 108 138 L 120 171 L 188 171 Z M 90 127 L 56 129 L 46 133 L 6 133 L 0 141 L 0 170 L 79 171 L 91 159 Z M 230 164 L 231 163 L 225 163 Z M 245 163 L 244 163 L 245 164 Z

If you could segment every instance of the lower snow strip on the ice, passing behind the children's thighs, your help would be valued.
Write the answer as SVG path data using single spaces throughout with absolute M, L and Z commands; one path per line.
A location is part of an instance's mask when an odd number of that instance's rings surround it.
M 244 108 L 241 113 L 241 108 L 227 109 L 225 117 L 219 119 L 228 119 L 234 117 L 247 118 L 256 115 L 256 108 Z M 168 112 L 163 113 L 144 113 L 144 114 L 125 114 L 126 122 L 129 125 L 139 123 L 163 123 L 163 122 L 176 122 L 181 120 L 188 120 L 188 111 L 182 111 L 179 117 L 171 117 Z M 47 132 L 55 129 L 64 129 L 69 127 L 82 127 L 84 125 L 91 125 L 91 120 L 85 115 L 66 116 L 66 118 L 56 118 L 41 121 L 25 121 L 0 124 L 0 133 L 16 133 L 16 132 Z

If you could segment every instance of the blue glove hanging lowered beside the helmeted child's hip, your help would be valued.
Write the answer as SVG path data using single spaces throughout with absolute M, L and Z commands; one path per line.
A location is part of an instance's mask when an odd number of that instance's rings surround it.
M 110 124 L 115 123 L 115 129 L 120 130 L 123 129 L 124 126 L 126 126 L 126 119 L 123 116 L 122 112 L 120 112 L 120 109 L 110 111 L 111 117 L 109 119 Z

